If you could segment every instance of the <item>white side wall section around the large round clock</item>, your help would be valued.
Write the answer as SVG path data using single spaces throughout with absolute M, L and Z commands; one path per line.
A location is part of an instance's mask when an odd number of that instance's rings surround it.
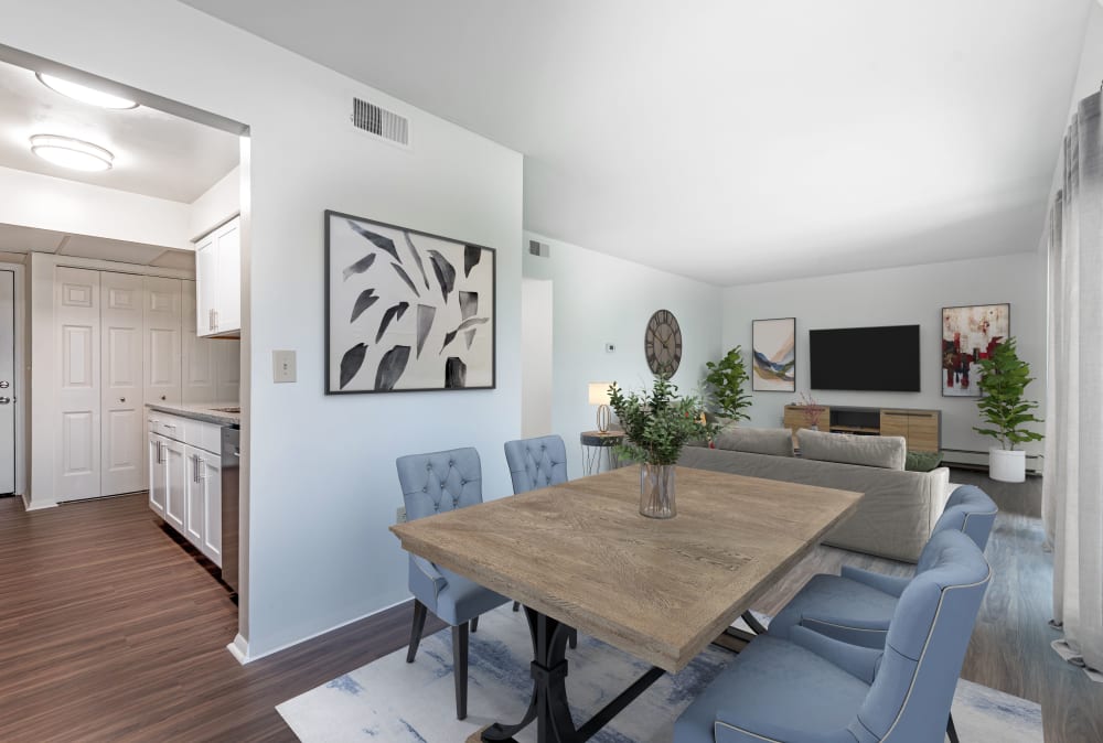
M 589 383 L 615 381 L 625 389 L 650 386 L 643 336 L 652 313 L 665 309 L 682 327 L 682 365 L 674 383 L 682 394 L 698 392 L 705 362 L 720 354 L 720 289 L 525 233 L 526 246 L 529 239 L 550 245 L 549 258 L 524 251 L 524 272 L 525 278 L 552 280 L 552 422 L 567 444 L 568 473 L 578 477 L 582 474 L 578 435 L 597 428 Z M 607 343 L 617 351 L 606 353 Z

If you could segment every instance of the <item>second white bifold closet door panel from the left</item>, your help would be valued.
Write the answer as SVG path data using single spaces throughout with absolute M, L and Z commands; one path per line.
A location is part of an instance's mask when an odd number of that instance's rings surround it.
M 135 493 L 144 485 L 142 402 L 142 278 L 99 274 L 103 348 L 101 495 Z

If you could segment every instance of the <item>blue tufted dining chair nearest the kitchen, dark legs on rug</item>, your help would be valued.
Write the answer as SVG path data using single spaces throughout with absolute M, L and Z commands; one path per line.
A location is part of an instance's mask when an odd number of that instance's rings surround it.
M 482 503 L 482 464 L 474 449 L 399 456 L 395 465 L 408 520 Z M 451 625 L 456 717 L 463 720 L 468 717 L 468 628 L 475 632 L 479 615 L 506 599 L 416 554 L 409 556 L 409 564 L 414 623 L 406 663 L 414 663 L 417 655 L 427 612 Z

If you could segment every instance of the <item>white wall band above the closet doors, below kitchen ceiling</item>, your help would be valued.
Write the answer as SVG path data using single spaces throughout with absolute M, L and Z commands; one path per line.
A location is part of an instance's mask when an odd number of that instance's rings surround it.
M 186 249 L 188 209 L 165 198 L 0 168 L 0 223 Z

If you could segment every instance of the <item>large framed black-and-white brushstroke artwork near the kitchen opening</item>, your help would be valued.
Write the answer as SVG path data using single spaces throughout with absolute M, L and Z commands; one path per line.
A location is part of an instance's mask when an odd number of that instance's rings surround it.
M 325 394 L 493 389 L 493 248 L 325 212 Z

